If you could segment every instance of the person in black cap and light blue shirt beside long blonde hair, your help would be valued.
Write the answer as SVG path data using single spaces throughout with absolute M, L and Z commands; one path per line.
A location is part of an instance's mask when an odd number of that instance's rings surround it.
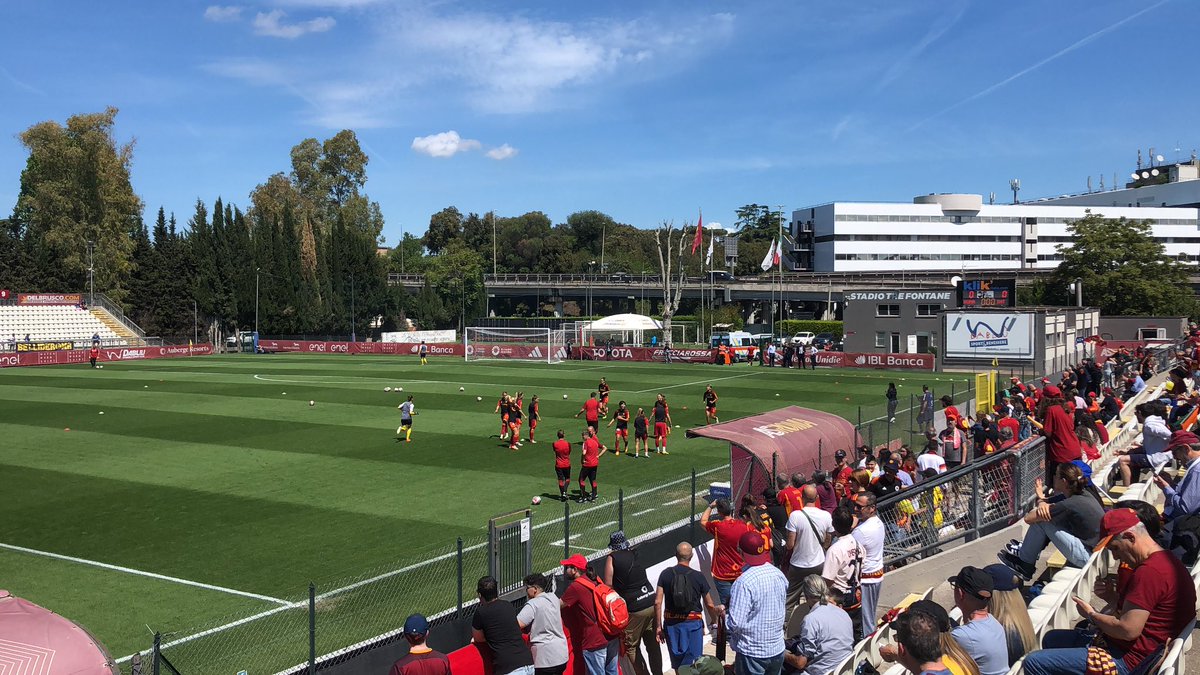
M 1004 627 L 988 611 L 996 590 L 991 574 L 970 565 L 949 578 L 954 586 L 954 607 L 962 613 L 962 625 L 950 631 L 976 664 L 979 675 L 1008 673 L 1008 638 Z

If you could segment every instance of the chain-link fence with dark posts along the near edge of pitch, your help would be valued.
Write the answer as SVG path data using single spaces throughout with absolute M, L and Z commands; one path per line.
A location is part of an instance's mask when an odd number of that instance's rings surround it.
M 601 492 L 595 502 L 548 501 L 530 516 L 529 571 L 554 571 L 560 560 L 576 552 L 598 557 L 607 551 L 614 530 L 624 530 L 629 539 L 644 539 L 694 522 L 695 537 L 709 484 L 728 478 L 728 465 L 721 465 L 692 470 L 641 491 Z M 460 538 L 407 565 L 402 561 L 272 598 L 272 608 L 156 635 L 155 645 L 137 655 L 137 662 L 144 673 L 157 664 L 162 673 L 181 675 L 281 673 L 318 662 L 336 664 L 398 634 L 413 611 L 469 615 L 475 584 L 490 572 L 487 536 Z M 134 657 L 119 663 L 131 673 Z

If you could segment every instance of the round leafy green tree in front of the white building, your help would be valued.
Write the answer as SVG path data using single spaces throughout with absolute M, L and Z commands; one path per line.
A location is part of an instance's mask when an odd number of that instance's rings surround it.
M 1103 315 L 1196 316 L 1188 267 L 1168 256 L 1148 220 L 1088 213 L 1067 226 L 1073 243 L 1051 275 L 1046 299 L 1073 305 L 1068 286 L 1084 283 L 1084 304 Z

